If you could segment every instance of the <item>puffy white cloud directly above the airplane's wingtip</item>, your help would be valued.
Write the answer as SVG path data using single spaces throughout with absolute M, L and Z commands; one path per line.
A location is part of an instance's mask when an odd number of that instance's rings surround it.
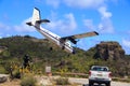
M 110 12 L 107 11 L 106 6 L 100 6 L 96 10 L 101 15 L 101 22 L 98 25 L 93 24 L 93 19 L 83 19 L 83 25 L 90 30 L 96 30 L 100 33 L 114 33 Z

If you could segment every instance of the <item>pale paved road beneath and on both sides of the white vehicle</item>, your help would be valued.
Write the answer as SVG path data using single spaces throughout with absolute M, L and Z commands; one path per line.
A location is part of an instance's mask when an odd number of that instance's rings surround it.
M 88 78 L 69 78 L 69 82 L 82 84 L 84 86 L 89 86 Z M 94 85 L 94 86 L 105 86 L 105 85 Z M 130 86 L 130 83 L 121 83 L 121 82 L 112 82 L 110 86 Z

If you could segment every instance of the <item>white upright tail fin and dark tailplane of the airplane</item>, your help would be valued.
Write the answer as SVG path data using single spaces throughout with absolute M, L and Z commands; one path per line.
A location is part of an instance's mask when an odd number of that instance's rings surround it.
M 34 13 L 32 13 L 32 17 L 31 17 L 31 22 L 26 23 L 26 24 L 29 26 L 39 26 L 41 23 L 50 23 L 50 20 L 41 19 L 40 11 L 37 8 L 35 8 Z

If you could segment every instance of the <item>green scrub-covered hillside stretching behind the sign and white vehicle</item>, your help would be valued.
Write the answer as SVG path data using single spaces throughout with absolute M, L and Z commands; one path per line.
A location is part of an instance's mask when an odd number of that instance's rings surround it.
M 53 48 L 50 48 L 53 47 Z M 119 60 L 95 59 L 95 47 L 89 51 L 76 48 L 76 54 L 68 54 L 47 40 L 29 35 L 0 39 L 0 73 L 6 72 L 5 64 L 16 62 L 22 66 L 23 57 L 29 55 L 35 66 L 34 70 L 44 72 L 46 66 L 52 67 L 52 72 L 88 73 L 92 64 L 108 66 L 115 76 L 130 75 L 130 55 Z

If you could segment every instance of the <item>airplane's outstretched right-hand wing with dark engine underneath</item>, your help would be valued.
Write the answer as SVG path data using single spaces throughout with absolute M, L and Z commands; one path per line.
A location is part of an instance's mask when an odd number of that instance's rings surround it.
M 96 31 L 92 31 L 92 32 L 87 32 L 87 33 L 81 33 L 81 34 L 75 34 L 75 35 L 64 37 L 64 38 L 61 38 L 61 40 L 63 40 L 63 41 L 69 40 L 70 42 L 73 42 L 74 44 L 76 44 L 77 43 L 76 39 L 81 39 L 81 38 L 87 38 L 87 37 L 93 37 L 93 35 L 99 35 L 99 33 Z

